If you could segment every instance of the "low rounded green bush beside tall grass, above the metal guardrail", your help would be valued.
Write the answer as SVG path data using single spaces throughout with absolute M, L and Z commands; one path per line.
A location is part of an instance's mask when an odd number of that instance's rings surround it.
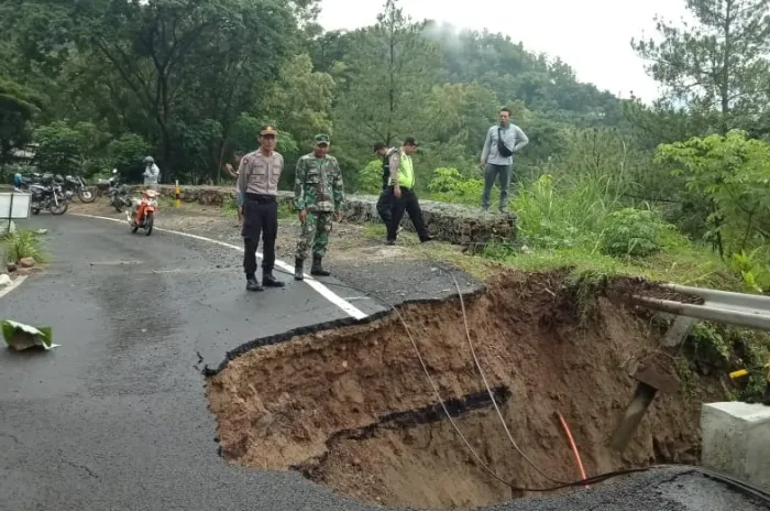
M 666 225 L 650 209 L 624 208 L 607 215 L 602 252 L 614 257 L 651 256 L 662 248 L 660 232 Z

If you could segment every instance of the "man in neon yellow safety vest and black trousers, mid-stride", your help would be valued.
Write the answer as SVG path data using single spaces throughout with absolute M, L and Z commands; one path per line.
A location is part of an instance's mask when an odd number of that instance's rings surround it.
M 404 211 L 409 214 L 420 242 L 425 243 L 432 240 L 425 227 L 420 203 L 415 193 L 415 167 L 411 156 L 417 152 L 418 145 L 413 137 L 407 137 L 404 139 L 400 149 L 394 151 L 388 159 L 391 186 L 387 193 L 391 197 L 392 206 L 391 221 L 387 224 L 387 244 L 396 243 L 398 226 L 402 222 L 402 218 L 404 218 Z

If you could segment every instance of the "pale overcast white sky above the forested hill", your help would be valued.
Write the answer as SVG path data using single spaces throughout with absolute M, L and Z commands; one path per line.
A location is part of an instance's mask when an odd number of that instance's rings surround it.
M 385 0 L 321 0 L 327 30 L 358 29 L 376 22 Z M 558 55 L 581 81 L 620 97 L 632 90 L 646 102 L 657 97 L 656 83 L 630 47 L 631 37 L 654 35 L 653 17 L 679 22 L 684 0 L 400 0 L 414 20 L 426 18 L 460 28 L 488 29 L 510 35 L 534 52 Z

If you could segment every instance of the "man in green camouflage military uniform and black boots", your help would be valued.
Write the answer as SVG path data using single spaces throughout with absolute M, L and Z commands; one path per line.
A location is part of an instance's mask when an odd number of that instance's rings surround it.
M 294 278 L 298 281 L 304 279 L 305 258 L 311 246 L 310 274 L 320 276 L 331 274 L 323 269 L 321 260 L 326 256 L 334 211 L 337 211 L 338 221 L 342 221 L 344 185 L 340 164 L 328 153 L 329 137 L 317 134 L 314 152 L 304 155 L 297 162 L 294 207 L 299 211 L 301 227 L 294 261 Z

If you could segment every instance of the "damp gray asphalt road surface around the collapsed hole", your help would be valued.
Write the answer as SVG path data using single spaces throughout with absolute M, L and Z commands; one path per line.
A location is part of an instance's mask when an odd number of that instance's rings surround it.
M 66 215 L 20 226 L 48 229 L 53 261 L 0 298 L 0 317 L 52 326 L 62 346 L 0 349 L 1 510 L 374 509 L 294 472 L 228 466 L 204 395 L 204 365 L 257 337 L 346 317 L 338 305 L 285 274 L 286 289 L 248 293 L 241 254 L 205 241 Z M 494 509 L 766 508 L 682 469 Z

